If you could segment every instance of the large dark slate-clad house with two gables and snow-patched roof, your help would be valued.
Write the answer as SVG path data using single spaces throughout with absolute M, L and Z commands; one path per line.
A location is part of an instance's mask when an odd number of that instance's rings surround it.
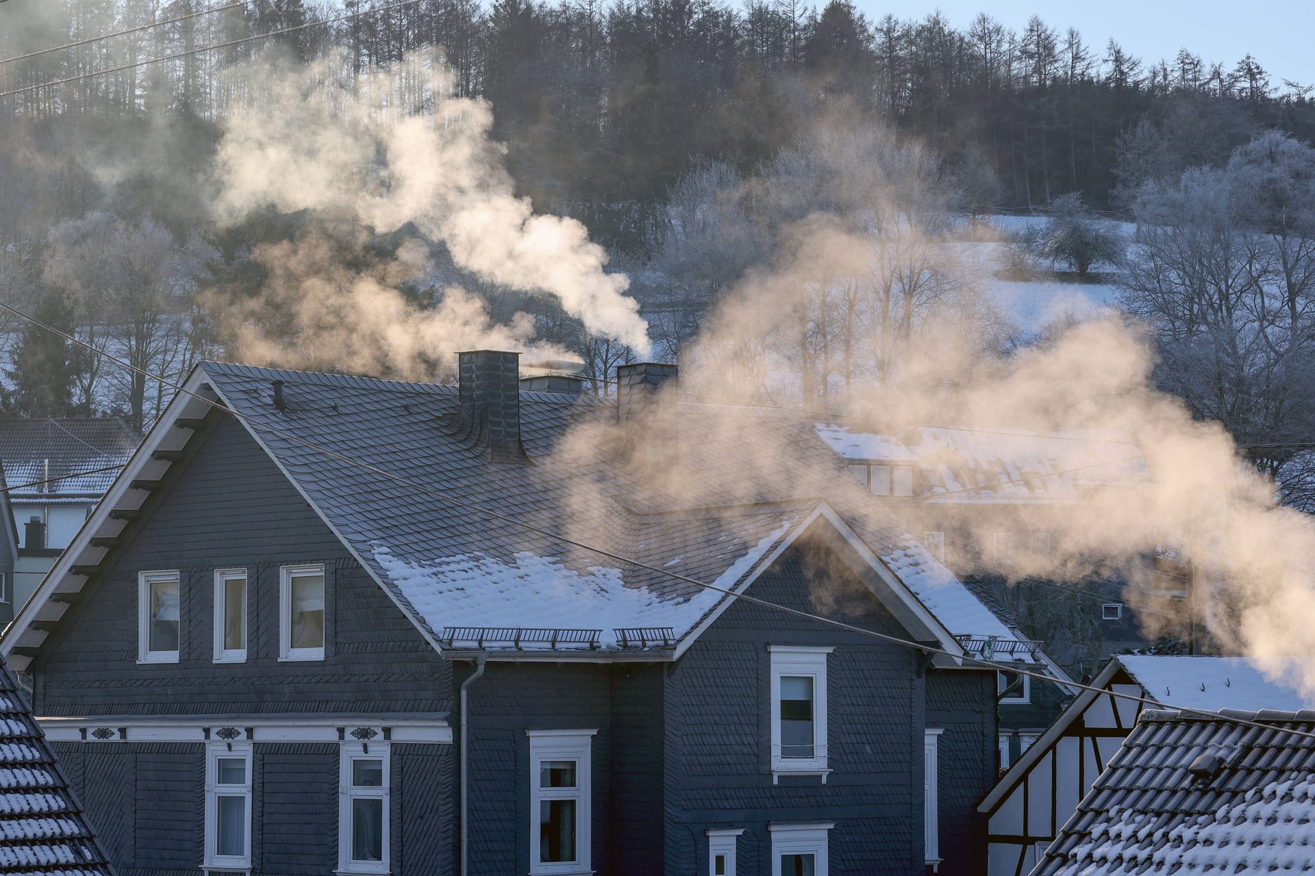
M 0 641 L 120 873 L 980 872 L 1009 630 L 675 380 L 200 365 Z

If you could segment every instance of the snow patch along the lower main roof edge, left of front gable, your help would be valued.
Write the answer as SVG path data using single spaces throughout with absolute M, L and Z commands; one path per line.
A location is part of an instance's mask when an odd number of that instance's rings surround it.
M 786 519 L 764 536 L 711 582 L 713 586 L 732 590 L 793 524 Z M 381 544 L 375 546 L 373 556 L 434 630 L 481 626 L 490 617 L 497 617 L 500 626 L 542 628 L 544 619 L 551 619 L 562 628 L 601 630 L 598 644 L 614 647 L 614 630 L 625 628 L 671 628 L 680 638 L 723 596 L 711 588 L 690 596 L 658 594 L 644 586 L 626 584 L 619 569 L 594 566 L 577 571 L 559 559 L 529 552 L 517 553 L 513 562 L 459 554 L 444 557 L 431 567 L 398 559 Z

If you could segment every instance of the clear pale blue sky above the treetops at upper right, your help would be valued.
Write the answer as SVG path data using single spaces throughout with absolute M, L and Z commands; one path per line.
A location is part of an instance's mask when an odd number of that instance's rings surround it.
M 1022 30 L 1038 14 L 1059 32 L 1077 28 L 1088 45 L 1099 47 L 1114 37 L 1144 62 L 1178 54 L 1187 47 L 1206 63 L 1235 66 L 1249 51 L 1270 74 L 1274 85 L 1283 79 L 1315 83 L 1315 3 L 1269 0 L 1239 4 L 1235 0 L 914 0 L 899 4 L 853 0 L 868 18 L 894 14 L 922 18 L 940 9 L 956 28 L 967 28 L 978 12 L 989 12 L 1002 24 Z M 818 5 L 826 5 L 819 3 Z

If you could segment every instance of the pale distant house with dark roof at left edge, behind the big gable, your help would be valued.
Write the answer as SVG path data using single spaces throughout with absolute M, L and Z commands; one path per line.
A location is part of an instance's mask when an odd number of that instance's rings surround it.
M 139 440 L 110 418 L 0 418 L 0 465 L 14 487 L 9 516 L 20 540 L 16 605 L 50 571 Z

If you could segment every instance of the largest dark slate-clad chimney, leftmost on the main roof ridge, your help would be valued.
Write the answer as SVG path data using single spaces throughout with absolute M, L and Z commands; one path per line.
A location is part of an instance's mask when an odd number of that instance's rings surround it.
M 490 462 L 525 460 L 521 447 L 521 353 L 472 349 L 458 353 L 462 419 Z

